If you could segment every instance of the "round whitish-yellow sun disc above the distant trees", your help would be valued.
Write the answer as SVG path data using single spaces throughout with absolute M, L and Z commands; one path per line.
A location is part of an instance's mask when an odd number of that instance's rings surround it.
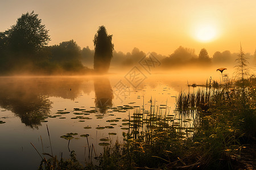
M 200 25 L 196 29 L 196 39 L 200 41 L 210 41 L 216 38 L 217 32 L 213 25 Z

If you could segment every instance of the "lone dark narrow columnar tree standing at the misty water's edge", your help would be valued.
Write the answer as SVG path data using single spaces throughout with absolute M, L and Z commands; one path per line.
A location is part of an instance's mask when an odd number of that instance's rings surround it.
M 94 36 L 94 70 L 97 73 L 107 73 L 110 61 L 113 57 L 114 44 L 112 44 L 112 36 L 108 35 L 104 25 L 98 28 Z

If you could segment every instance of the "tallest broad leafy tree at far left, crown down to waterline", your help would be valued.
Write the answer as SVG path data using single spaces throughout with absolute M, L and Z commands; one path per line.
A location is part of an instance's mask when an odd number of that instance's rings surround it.
M 32 65 L 43 57 L 38 52 L 50 41 L 46 26 L 38 14 L 22 14 L 5 32 L 0 32 L 0 71 L 8 73 L 33 69 Z

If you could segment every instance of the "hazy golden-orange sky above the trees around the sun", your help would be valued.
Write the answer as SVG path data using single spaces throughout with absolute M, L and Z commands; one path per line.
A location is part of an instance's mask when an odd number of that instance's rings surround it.
M 52 41 L 75 40 L 81 48 L 93 49 L 93 37 L 100 25 L 113 34 L 117 51 L 171 54 L 180 45 L 198 54 L 206 48 L 245 52 L 256 48 L 256 1 L 67 1 L 9 0 L 0 6 L 0 31 L 10 28 L 22 14 L 35 11 L 49 29 Z M 210 28 L 209 41 L 201 41 L 199 30 Z M 211 32 L 204 30 L 205 36 Z

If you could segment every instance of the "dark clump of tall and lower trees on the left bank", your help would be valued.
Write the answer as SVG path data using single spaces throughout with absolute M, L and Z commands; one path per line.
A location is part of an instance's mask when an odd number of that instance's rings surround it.
M 9 74 L 85 74 L 81 49 L 75 41 L 47 46 L 46 25 L 38 14 L 22 14 L 15 25 L 0 32 L 0 73 Z

